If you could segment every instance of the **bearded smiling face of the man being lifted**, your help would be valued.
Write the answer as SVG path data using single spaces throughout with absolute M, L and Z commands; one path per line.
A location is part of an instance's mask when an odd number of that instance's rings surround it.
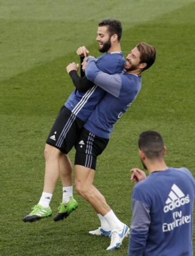
M 96 41 L 99 43 L 99 51 L 105 53 L 112 45 L 111 36 L 108 33 L 107 26 L 98 27 L 97 34 Z

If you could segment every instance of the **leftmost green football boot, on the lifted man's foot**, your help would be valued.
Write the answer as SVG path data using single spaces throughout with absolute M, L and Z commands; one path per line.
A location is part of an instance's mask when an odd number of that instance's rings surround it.
M 41 205 L 35 205 L 32 207 L 32 211 L 29 215 L 23 218 L 24 222 L 38 221 L 40 218 L 49 217 L 52 214 L 51 208 L 43 208 Z

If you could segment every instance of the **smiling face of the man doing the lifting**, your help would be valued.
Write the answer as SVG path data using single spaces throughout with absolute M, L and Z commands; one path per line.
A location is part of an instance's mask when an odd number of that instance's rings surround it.
M 137 70 L 140 66 L 140 52 L 138 48 L 135 47 L 132 51 L 127 55 L 125 62 L 126 71 Z

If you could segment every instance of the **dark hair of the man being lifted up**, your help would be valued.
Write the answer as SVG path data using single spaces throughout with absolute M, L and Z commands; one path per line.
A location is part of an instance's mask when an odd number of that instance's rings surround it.
M 114 20 L 114 18 L 108 18 L 107 20 L 100 21 L 98 26 L 99 27 L 107 26 L 109 35 L 110 36 L 114 34 L 118 35 L 118 41 L 120 41 L 122 36 L 122 26 L 120 21 Z

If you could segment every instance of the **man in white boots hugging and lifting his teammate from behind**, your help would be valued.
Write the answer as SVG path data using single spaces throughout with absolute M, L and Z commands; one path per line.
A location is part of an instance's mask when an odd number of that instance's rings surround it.
M 129 228 L 116 217 L 103 195 L 93 185 L 96 158 L 106 148 L 113 124 L 137 97 L 141 89 L 140 75 L 152 66 L 155 53 L 153 46 L 145 42 L 139 43 L 127 55 L 126 72 L 121 74 L 104 73 L 96 66 L 95 58 L 87 58 L 87 78 L 107 93 L 83 126 L 75 146 L 75 186 L 77 192 L 95 209 L 101 221 L 101 227 L 89 233 L 106 236 L 111 234 L 111 244 L 107 250 L 120 247 Z

